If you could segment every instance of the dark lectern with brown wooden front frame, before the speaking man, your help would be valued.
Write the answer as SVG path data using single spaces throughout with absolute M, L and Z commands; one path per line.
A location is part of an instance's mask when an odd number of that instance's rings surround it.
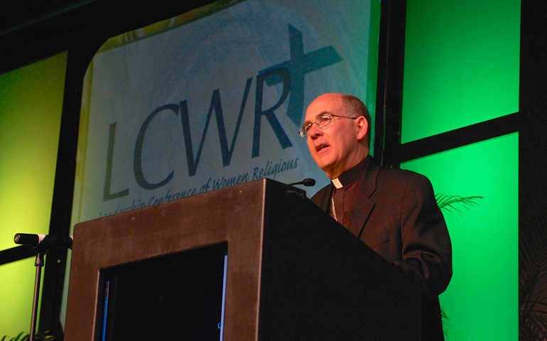
M 102 340 L 109 269 L 215 245 L 224 340 L 420 339 L 416 286 L 302 191 L 263 179 L 77 224 L 65 340 Z

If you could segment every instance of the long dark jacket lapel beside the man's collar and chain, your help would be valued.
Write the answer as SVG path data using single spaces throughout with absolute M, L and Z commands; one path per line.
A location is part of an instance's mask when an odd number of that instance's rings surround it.
M 352 215 L 352 220 L 350 220 L 347 229 L 349 229 L 357 237 L 361 237 L 364 231 L 364 225 L 367 223 L 369 216 L 376 205 L 370 197 L 376 191 L 376 183 L 380 167 L 374 163 L 374 160 L 371 160 L 369 166 L 364 171 L 364 174 L 361 178 L 361 183 L 359 184 L 359 191 L 357 192 L 357 197 L 355 202 L 359 205 L 354 207 L 354 212 Z M 332 189 L 330 190 L 332 193 Z

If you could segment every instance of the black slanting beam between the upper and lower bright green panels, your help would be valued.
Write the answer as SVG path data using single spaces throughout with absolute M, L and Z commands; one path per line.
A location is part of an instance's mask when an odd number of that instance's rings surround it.
M 401 144 L 391 151 L 386 150 L 386 156 L 391 164 L 410 161 L 441 151 L 475 144 L 476 142 L 493 139 L 519 131 L 519 113 L 491 119 L 464 128 L 448 131 L 425 139 Z

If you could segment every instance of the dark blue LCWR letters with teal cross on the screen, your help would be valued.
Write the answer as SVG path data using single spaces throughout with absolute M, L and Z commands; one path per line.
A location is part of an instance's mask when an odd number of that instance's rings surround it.
M 283 131 L 283 127 L 279 124 L 279 121 L 275 115 L 276 109 L 286 101 L 288 94 L 291 94 L 291 98 L 288 101 L 287 116 L 293 121 L 296 126 L 300 125 L 300 120 L 303 114 L 304 105 L 304 75 L 313 72 L 315 70 L 322 69 L 329 65 L 339 63 L 342 58 L 332 46 L 320 48 L 319 50 L 312 51 L 304 54 L 302 33 L 293 26 L 288 26 L 289 43 L 291 49 L 291 59 L 268 67 L 265 70 L 261 70 L 256 75 L 256 94 L 254 101 L 254 126 L 253 126 L 253 140 L 251 158 L 260 156 L 260 133 L 262 117 L 266 117 L 266 121 L 269 123 L 276 139 L 279 141 L 281 148 L 285 149 L 293 146 L 288 139 L 287 134 Z M 231 143 L 228 145 L 226 128 L 224 126 L 224 115 L 222 113 L 222 102 L 220 100 L 220 90 L 217 89 L 212 93 L 211 103 L 209 111 L 207 112 L 207 119 L 205 121 L 205 127 L 203 128 L 202 136 L 200 139 L 200 145 L 197 147 L 197 153 L 194 156 L 194 148 L 192 143 L 191 131 L 190 131 L 190 119 L 188 113 L 188 102 L 184 100 L 178 104 L 166 104 L 151 112 L 151 114 L 144 120 L 139 134 L 136 139 L 134 157 L 133 157 L 133 170 L 135 180 L 139 186 L 145 190 L 154 190 L 161 188 L 169 183 L 173 179 L 175 171 L 171 171 L 170 174 L 158 183 L 150 183 L 146 180 L 143 174 L 142 165 L 142 151 L 143 141 L 146 136 L 146 130 L 151 121 L 158 114 L 174 114 L 176 117 L 180 114 L 180 120 L 183 129 L 184 145 L 186 152 L 186 161 L 188 164 L 188 176 L 195 175 L 197 171 L 197 164 L 200 162 L 200 156 L 205 142 L 205 136 L 209 129 L 212 112 L 215 112 L 215 119 L 217 121 L 217 130 L 220 142 L 220 153 L 222 156 L 222 165 L 224 167 L 229 166 L 232 161 L 232 153 L 234 152 L 234 146 L 237 141 L 237 135 L 239 133 L 239 126 L 242 121 L 243 112 L 247 104 L 249 97 L 249 90 L 251 88 L 252 77 L 247 79 L 245 83 L 244 94 L 242 98 L 242 104 L 239 108 L 239 114 L 237 117 L 237 123 L 234 129 L 234 135 Z M 267 85 L 272 86 L 279 84 L 283 85 L 283 92 L 278 102 L 273 107 L 263 110 L 262 109 L 262 96 L 264 91 L 264 82 Z M 110 193 L 111 179 L 112 179 L 112 163 L 114 160 L 114 143 L 116 141 L 116 123 L 110 124 L 109 127 L 109 139 L 108 139 L 108 153 L 107 153 L 107 169 L 104 178 L 104 194 L 103 201 L 116 199 L 118 197 L 124 197 L 129 195 L 129 188 L 121 190 L 117 193 Z

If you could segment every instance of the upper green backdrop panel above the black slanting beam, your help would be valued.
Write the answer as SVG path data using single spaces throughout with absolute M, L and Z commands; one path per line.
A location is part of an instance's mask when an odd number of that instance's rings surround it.
M 408 0 L 401 143 L 519 111 L 519 0 Z

